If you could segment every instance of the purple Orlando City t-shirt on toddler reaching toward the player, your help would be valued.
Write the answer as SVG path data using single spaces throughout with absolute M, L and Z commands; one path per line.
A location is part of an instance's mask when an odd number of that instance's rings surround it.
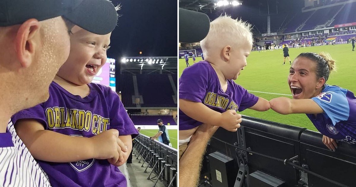
M 220 113 L 231 109 L 243 111 L 258 101 L 258 97 L 248 93 L 233 80 L 227 80 L 227 90 L 223 92 L 218 75 L 207 61 L 200 61 L 184 69 L 179 78 L 179 99 L 203 103 Z M 193 129 L 201 124 L 179 109 L 179 130 Z

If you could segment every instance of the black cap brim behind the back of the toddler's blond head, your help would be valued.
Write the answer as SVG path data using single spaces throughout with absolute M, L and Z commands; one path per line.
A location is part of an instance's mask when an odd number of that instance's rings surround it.
M 195 43 L 208 35 L 210 20 L 201 12 L 179 8 L 179 41 Z

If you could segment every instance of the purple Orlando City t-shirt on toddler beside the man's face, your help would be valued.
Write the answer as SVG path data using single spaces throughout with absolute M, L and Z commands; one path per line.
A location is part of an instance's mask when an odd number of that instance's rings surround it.
M 90 93 L 81 98 L 52 82 L 49 99 L 45 103 L 22 110 L 12 116 L 19 119 L 36 119 L 46 130 L 69 136 L 92 137 L 104 130 L 117 129 L 119 135 L 138 135 L 119 96 L 109 87 L 88 84 Z M 53 140 L 56 141 L 56 140 Z M 89 159 L 69 163 L 38 160 L 47 173 L 52 186 L 120 186 L 126 187 L 126 178 L 119 168 L 107 160 Z

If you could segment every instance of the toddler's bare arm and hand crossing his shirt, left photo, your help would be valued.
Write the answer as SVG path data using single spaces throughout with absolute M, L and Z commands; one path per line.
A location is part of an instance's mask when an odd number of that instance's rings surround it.
M 119 131 L 116 129 L 90 138 L 77 137 L 45 130 L 38 121 L 24 119 L 16 122 L 15 130 L 32 156 L 43 161 L 74 162 L 111 158 L 116 163 L 123 161 L 122 151 L 127 151 L 124 143 L 119 141 Z

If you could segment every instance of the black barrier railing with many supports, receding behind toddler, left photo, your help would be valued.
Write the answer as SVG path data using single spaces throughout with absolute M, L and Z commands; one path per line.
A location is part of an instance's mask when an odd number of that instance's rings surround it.
M 135 138 L 134 144 L 133 155 L 139 159 L 138 163 L 142 161 L 141 167 L 146 167 L 145 173 L 151 170 L 147 180 L 155 182 L 153 187 L 158 181 L 162 181 L 166 187 L 176 187 L 178 150 L 142 134 Z

